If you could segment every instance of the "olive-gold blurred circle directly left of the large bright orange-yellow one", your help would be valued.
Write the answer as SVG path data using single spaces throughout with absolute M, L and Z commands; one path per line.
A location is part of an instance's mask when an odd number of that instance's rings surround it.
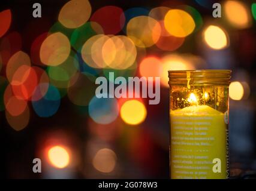
M 127 24 L 127 36 L 134 41 L 137 47 L 152 47 L 160 35 L 160 24 L 151 17 L 134 17 Z

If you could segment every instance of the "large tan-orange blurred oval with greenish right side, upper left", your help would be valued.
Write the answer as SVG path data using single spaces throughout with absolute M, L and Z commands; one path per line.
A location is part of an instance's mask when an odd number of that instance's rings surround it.
M 47 66 L 58 66 L 70 55 L 70 41 L 61 32 L 53 33 L 44 39 L 40 48 L 40 59 Z

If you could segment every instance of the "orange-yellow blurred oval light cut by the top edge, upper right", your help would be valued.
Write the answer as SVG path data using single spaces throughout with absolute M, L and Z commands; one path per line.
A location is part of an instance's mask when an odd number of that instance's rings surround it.
M 239 29 L 251 25 L 248 8 L 241 1 L 227 1 L 224 5 L 225 15 L 230 23 Z

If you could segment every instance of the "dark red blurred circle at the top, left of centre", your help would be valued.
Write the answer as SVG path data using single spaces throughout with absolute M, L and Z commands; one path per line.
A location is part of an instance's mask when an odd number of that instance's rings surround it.
M 102 7 L 92 14 L 91 21 L 100 24 L 106 35 L 115 35 L 124 27 L 124 11 L 116 6 Z

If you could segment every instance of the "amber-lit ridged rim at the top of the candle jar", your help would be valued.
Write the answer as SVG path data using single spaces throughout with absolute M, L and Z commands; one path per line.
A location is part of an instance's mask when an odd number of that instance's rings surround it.
M 170 85 L 230 85 L 231 70 L 168 70 Z

